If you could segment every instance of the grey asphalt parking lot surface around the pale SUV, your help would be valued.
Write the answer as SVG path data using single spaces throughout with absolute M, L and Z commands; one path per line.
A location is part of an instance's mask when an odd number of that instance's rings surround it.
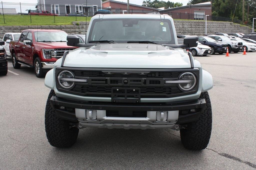
M 85 128 L 68 149 L 52 147 L 44 110 L 50 89 L 33 69 L 0 77 L 0 169 L 256 169 L 256 52 L 195 57 L 214 79 L 210 143 L 189 151 L 179 131 Z

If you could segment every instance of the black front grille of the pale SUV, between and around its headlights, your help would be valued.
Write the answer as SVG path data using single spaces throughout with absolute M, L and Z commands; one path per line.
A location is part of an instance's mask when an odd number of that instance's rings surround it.
M 178 84 L 165 84 L 165 80 L 177 80 L 183 72 L 194 72 L 199 78 L 198 69 L 90 69 L 56 68 L 56 78 L 61 70 L 72 71 L 76 78 L 87 79 L 87 83 L 76 82 L 65 90 L 58 83 L 59 91 L 93 97 L 111 97 L 114 88 L 140 89 L 141 98 L 170 98 L 196 93 L 197 86 L 189 92 L 182 91 Z M 197 81 L 199 82 L 199 81 Z

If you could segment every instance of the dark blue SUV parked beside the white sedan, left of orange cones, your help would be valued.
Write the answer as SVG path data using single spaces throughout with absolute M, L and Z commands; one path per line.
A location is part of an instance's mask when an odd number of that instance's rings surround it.
M 217 42 L 216 40 L 207 37 L 207 36 L 199 36 L 198 41 L 203 45 L 208 45 L 211 47 L 211 54 L 219 53 L 223 54 L 227 51 L 228 44 Z

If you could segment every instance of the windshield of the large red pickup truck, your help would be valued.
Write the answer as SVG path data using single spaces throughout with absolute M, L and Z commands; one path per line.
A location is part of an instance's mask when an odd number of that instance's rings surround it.
M 37 42 L 42 41 L 65 41 L 67 42 L 67 33 L 66 32 L 48 32 L 48 31 L 36 31 L 35 33 L 35 39 Z

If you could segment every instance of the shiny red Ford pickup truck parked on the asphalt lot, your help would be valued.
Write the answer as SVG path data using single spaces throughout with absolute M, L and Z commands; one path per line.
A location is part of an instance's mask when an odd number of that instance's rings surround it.
M 60 30 L 22 31 L 18 41 L 10 41 L 13 67 L 17 69 L 23 64 L 34 68 L 37 77 L 44 77 L 65 51 L 77 48 L 67 45 L 67 35 Z

